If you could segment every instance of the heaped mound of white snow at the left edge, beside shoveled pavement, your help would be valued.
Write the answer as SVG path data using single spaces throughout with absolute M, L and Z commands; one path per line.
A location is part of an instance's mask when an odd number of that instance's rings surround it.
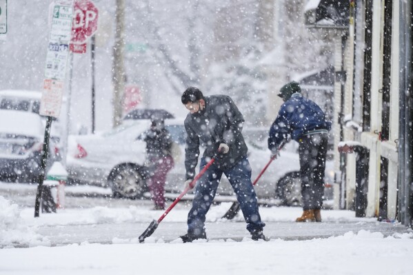
M 19 207 L 0 196 L 0 243 L 21 246 L 50 245 L 50 242 L 36 234 L 20 216 Z

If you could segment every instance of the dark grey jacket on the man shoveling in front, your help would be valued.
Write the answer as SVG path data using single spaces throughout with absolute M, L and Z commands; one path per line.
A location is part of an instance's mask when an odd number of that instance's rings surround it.
M 185 119 L 188 134 L 185 147 L 186 179 L 194 179 L 198 163 L 200 141 L 205 144 L 204 157 L 212 158 L 219 144 L 230 147 L 227 154 L 218 154 L 214 165 L 225 171 L 234 167 L 247 155 L 242 128 L 244 118 L 230 96 L 205 96 L 205 108 L 198 113 L 189 113 Z

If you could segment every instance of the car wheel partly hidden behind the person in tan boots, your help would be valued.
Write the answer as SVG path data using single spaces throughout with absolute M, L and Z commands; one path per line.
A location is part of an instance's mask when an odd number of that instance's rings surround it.
M 301 179 L 299 172 L 285 175 L 276 184 L 275 194 L 286 206 L 301 206 Z

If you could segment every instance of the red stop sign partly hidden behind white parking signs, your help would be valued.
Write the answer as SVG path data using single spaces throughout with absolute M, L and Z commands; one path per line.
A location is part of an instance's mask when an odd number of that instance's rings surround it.
M 97 31 L 98 9 L 90 0 L 75 0 L 70 43 L 85 43 Z

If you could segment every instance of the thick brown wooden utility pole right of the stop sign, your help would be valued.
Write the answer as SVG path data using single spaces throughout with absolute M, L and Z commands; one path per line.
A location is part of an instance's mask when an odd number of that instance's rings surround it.
M 113 83 L 113 127 L 121 124 L 122 98 L 125 90 L 125 67 L 123 48 L 125 45 L 125 0 L 116 0 L 116 30 L 114 34 L 112 83 Z

